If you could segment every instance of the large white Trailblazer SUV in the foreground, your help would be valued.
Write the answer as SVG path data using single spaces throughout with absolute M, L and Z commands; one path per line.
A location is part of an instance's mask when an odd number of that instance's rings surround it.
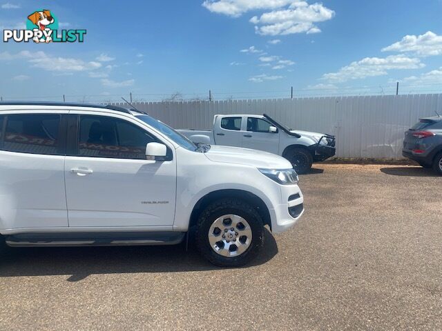
M 297 183 L 282 157 L 195 146 L 134 109 L 0 103 L 0 250 L 175 244 L 195 230 L 211 263 L 243 265 L 264 225 L 301 216 Z

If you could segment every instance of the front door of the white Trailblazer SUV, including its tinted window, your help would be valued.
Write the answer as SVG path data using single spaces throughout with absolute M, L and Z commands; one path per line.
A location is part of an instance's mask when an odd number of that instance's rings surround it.
M 69 226 L 172 226 L 176 161 L 145 155 L 148 142 L 162 141 L 117 115 L 81 114 L 77 123 L 77 149 L 65 165 Z

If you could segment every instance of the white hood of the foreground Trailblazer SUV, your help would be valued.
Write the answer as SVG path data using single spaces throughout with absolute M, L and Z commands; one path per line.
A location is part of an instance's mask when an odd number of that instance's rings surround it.
M 291 163 L 283 157 L 260 150 L 249 150 L 248 148 L 211 145 L 210 150 L 205 152 L 204 155 L 213 162 L 243 164 L 264 169 L 292 168 Z

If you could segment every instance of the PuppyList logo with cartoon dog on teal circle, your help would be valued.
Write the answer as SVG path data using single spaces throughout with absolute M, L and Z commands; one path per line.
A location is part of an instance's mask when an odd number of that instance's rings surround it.
M 75 43 L 84 42 L 86 30 L 59 30 L 59 22 L 50 10 L 32 12 L 26 21 L 26 30 L 3 30 L 3 42 L 17 43 Z

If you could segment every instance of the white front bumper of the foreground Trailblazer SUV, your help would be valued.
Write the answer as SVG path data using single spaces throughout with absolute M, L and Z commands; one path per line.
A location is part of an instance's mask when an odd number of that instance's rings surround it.
M 280 233 L 291 228 L 304 213 L 304 197 L 298 185 L 281 185 L 281 201 L 276 205 L 271 232 Z

